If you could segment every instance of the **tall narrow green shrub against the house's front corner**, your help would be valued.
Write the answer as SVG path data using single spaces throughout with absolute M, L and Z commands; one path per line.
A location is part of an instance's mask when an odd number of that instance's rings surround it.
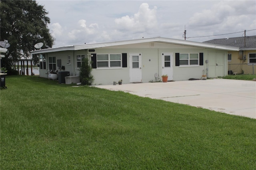
M 87 57 L 82 59 L 81 67 L 79 70 L 79 78 L 81 85 L 92 85 L 94 78 L 92 75 L 91 62 Z

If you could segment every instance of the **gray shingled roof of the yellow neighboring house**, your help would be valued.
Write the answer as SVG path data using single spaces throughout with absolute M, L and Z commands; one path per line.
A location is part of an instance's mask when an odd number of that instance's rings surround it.
M 244 45 L 245 40 L 245 45 Z M 234 37 L 234 38 L 222 38 L 206 41 L 204 43 L 212 43 L 218 45 L 228 45 L 233 47 L 239 47 L 244 50 L 255 50 L 256 49 L 256 36 Z

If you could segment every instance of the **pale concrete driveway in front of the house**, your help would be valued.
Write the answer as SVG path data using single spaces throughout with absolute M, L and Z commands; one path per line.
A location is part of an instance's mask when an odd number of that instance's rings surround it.
M 95 87 L 256 119 L 256 81 L 208 79 Z

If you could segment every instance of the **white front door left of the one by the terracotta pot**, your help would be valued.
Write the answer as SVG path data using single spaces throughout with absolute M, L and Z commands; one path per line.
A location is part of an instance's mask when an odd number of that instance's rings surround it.
M 141 54 L 130 54 L 130 82 L 142 82 Z

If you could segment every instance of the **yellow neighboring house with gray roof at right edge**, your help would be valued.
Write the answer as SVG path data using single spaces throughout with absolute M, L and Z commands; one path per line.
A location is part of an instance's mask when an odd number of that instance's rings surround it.
M 256 36 L 222 38 L 204 43 L 239 47 L 239 51 L 228 51 L 230 73 L 256 74 Z

